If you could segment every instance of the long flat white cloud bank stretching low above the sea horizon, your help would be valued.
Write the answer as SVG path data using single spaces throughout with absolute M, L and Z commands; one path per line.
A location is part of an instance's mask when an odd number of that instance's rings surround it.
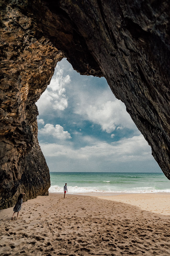
M 110 144 L 104 141 L 97 141 L 89 136 L 82 139 L 87 141 L 89 145 L 74 149 L 70 145 L 41 143 L 41 149 L 45 157 L 64 156 L 66 159 L 86 159 L 96 162 L 98 162 L 98 159 L 104 159 L 104 161 L 112 163 L 132 160 L 140 162 L 153 158 L 151 148 L 142 134 L 128 139 L 123 138 Z

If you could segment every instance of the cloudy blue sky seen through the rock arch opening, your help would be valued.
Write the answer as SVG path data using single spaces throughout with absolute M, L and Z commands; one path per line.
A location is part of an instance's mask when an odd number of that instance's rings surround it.
M 161 172 L 104 77 L 82 76 L 63 59 L 36 105 L 50 171 Z

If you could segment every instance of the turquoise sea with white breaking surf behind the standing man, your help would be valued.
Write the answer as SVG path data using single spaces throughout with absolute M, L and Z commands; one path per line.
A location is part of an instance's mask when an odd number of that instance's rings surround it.
M 69 193 L 170 193 L 170 180 L 163 173 L 82 173 L 50 172 L 49 192 L 63 192 L 67 183 Z

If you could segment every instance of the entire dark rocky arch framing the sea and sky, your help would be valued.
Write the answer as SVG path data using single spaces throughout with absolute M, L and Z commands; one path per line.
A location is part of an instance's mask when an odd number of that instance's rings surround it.
M 105 76 L 170 179 L 169 1 L 0 3 L 2 207 L 21 188 L 48 193 L 35 102 L 64 55 L 80 74 Z

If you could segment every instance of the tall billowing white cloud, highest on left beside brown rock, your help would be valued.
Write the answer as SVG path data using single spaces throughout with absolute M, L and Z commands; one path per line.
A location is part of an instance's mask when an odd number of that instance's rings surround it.
M 63 77 L 63 69 L 55 69 L 50 84 L 36 103 L 40 115 L 67 108 L 68 102 L 64 87 L 70 81 L 69 75 Z

